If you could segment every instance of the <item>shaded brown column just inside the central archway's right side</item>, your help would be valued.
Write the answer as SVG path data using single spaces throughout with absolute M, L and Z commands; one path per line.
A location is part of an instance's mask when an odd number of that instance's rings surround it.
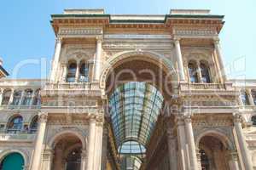
M 173 134 L 173 130 L 169 129 L 167 133 L 168 138 L 168 150 L 169 150 L 169 161 L 171 170 L 177 170 L 177 144 L 176 138 Z

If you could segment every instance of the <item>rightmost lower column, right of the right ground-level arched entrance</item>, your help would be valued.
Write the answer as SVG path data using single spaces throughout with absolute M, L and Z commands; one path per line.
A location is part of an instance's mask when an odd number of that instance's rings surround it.
M 241 150 L 241 158 L 244 163 L 244 167 L 247 170 L 253 170 L 253 163 L 252 163 L 252 157 L 250 156 L 249 150 L 247 149 L 247 142 L 246 139 L 242 133 L 242 128 L 241 128 L 241 115 L 236 114 L 234 116 L 234 125 L 236 129 L 236 135 L 237 135 L 237 140 L 239 144 L 239 148 Z

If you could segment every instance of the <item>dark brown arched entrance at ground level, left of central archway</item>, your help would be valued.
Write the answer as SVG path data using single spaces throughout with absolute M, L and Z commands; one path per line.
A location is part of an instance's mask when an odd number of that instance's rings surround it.
M 82 142 L 73 133 L 64 133 L 55 139 L 53 170 L 80 170 Z

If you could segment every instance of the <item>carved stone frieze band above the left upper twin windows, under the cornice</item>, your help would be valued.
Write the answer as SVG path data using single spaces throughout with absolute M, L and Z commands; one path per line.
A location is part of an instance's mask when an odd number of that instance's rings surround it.
M 102 27 L 61 27 L 58 31 L 58 37 L 96 37 L 102 34 Z

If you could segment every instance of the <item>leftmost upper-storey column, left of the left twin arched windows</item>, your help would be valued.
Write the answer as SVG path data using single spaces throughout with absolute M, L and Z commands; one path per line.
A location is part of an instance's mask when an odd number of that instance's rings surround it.
M 61 55 L 61 37 L 57 37 L 55 42 L 55 54 L 53 57 L 51 72 L 50 72 L 50 82 L 55 82 L 55 76 L 58 68 L 58 62 L 60 60 L 60 55 Z

